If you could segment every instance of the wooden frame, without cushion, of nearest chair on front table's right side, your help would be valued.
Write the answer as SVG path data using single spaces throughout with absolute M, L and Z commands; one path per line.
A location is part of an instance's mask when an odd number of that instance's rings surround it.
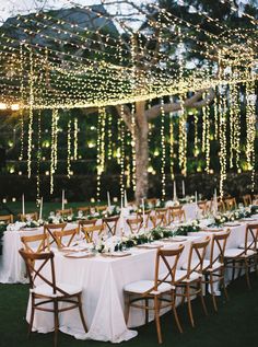
M 154 310 L 155 323 L 156 323 L 156 332 L 157 332 L 157 340 L 159 344 L 162 344 L 162 332 L 161 332 L 161 322 L 160 322 L 160 311 L 165 308 L 171 308 L 173 310 L 177 327 L 180 333 L 183 333 L 180 322 L 176 311 L 175 304 L 175 273 L 179 256 L 184 250 L 184 245 L 179 245 L 177 248 L 173 250 L 157 250 L 156 259 L 155 259 L 155 271 L 154 271 L 154 286 L 150 288 L 148 291 L 141 294 L 136 294 L 134 292 L 125 291 L 125 302 L 126 302 L 126 322 L 129 319 L 130 308 L 137 308 L 145 311 L 145 324 L 149 321 L 149 311 Z M 167 258 L 174 258 L 172 262 L 168 262 Z M 166 268 L 165 276 L 161 279 L 160 266 L 161 263 L 164 263 Z M 166 292 L 159 292 L 159 286 L 169 282 L 172 286 L 172 290 Z M 168 298 L 164 298 L 163 296 L 167 294 Z M 149 301 L 154 301 L 154 305 L 150 305 Z M 143 303 L 141 302 L 143 301 Z M 162 304 L 163 303 L 163 304 Z

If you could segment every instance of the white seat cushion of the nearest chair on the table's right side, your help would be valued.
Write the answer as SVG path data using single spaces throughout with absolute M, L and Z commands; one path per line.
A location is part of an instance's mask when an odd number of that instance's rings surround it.
M 132 293 L 142 294 L 145 291 L 150 290 L 154 286 L 154 280 L 139 280 L 136 282 L 128 284 L 124 287 L 125 291 L 129 291 Z M 169 284 L 161 284 L 157 287 L 157 291 L 151 291 L 151 294 L 160 294 L 162 292 L 171 291 L 174 287 Z

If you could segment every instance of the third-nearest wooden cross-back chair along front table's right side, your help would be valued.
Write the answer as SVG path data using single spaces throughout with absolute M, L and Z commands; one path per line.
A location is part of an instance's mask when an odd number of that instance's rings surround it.
M 210 293 L 212 296 L 213 306 L 214 310 L 218 311 L 216 299 L 215 299 L 215 291 L 214 291 L 214 284 L 219 282 L 222 285 L 224 290 L 225 298 L 227 297 L 227 290 L 224 280 L 224 253 L 226 247 L 226 242 L 230 236 L 231 230 L 227 229 L 223 233 L 214 233 L 211 238 L 211 247 L 210 247 L 210 256 L 209 261 L 203 261 L 203 270 L 202 274 L 204 275 L 203 282 L 207 286 L 210 286 Z

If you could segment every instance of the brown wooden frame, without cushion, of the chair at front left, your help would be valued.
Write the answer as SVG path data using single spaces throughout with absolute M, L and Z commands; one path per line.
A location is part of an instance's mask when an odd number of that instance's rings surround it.
M 83 311 L 82 311 L 82 291 L 78 291 L 73 294 L 69 294 L 63 289 L 59 288 L 56 282 L 56 274 L 55 274 L 55 264 L 54 264 L 54 253 L 30 253 L 24 250 L 19 251 L 21 256 L 23 257 L 28 278 L 30 278 L 30 287 L 31 287 L 31 319 L 30 319 L 30 326 L 28 326 L 28 336 L 31 335 L 32 328 L 33 328 L 33 321 L 34 321 L 34 314 L 35 310 L 45 311 L 45 312 L 51 312 L 54 313 L 54 326 L 55 326 L 55 338 L 54 344 L 55 347 L 57 346 L 57 337 L 58 337 L 58 328 L 59 328 L 59 313 L 79 309 L 81 322 L 83 325 L 83 328 L 85 333 L 87 333 L 86 323 L 84 320 Z M 36 261 L 40 262 L 40 265 L 36 268 Z M 37 263 L 38 265 L 38 263 Z M 46 266 L 50 266 L 50 279 L 46 278 L 42 271 Z M 48 271 L 49 273 L 49 271 Z M 52 289 L 52 296 L 44 296 L 38 294 L 34 292 L 35 280 L 40 279 L 44 284 L 48 285 Z M 66 305 L 60 308 L 59 303 L 66 302 L 70 305 Z M 52 303 L 54 308 L 49 308 L 49 305 L 45 306 L 47 303 Z

